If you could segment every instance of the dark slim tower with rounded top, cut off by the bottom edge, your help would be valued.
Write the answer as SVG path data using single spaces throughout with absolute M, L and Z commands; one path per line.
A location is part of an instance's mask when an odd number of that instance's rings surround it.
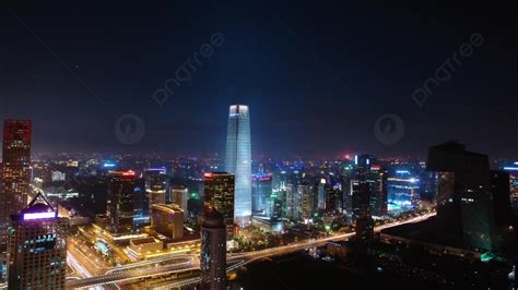
M 226 225 L 225 218 L 207 206 L 201 226 L 202 289 L 226 289 Z

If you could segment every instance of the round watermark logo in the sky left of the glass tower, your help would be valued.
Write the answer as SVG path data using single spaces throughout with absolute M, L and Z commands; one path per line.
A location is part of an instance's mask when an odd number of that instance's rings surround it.
M 122 144 L 133 145 L 142 140 L 144 133 L 144 120 L 137 114 L 127 113 L 115 123 L 115 136 Z

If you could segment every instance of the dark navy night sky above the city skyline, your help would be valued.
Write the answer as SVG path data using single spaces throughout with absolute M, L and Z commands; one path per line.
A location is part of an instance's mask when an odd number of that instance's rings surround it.
M 228 106 L 238 102 L 250 106 L 254 156 L 424 156 L 447 140 L 517 155 L 511 8 L 2 2 L 0 117 L 32 119 L 35 152 L 223 153 Z M 483 43 L 417 105 L 412 94 L 473 34 Z M 217 47 L 213 35 L 223 37 Z M 200 57 L 208 45 L 212 53 Z M 190 80 L 176 80 L 160 106 L 153 94 L 195 53 Z M 128 113 L 145 123 L 131 145 L 115 134 Z M 387 113 L 404 122 L 392 144 L 374 130 Z

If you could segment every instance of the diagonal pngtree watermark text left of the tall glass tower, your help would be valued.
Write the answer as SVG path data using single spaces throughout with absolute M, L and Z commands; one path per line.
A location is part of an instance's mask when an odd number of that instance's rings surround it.
M 192 80 L 192 75 L 201 67 L 200 56 L 204 59 L 212 57 L 215 49 L 221 47 L 225 41 L 225 37 L 221 33 L 212 34 L 210 43 L 200 46 L 199 51 L 196 51 L 192 57 L 185 60 L 181 65 L 175 71 L 175 77 L 168 78 L 164 82 L 164 87 L 158 88 L 151 96 L 153 100 L 160 106 L 164 107 L 170 96 L 174 95 L 176 88 L 181 87 Z

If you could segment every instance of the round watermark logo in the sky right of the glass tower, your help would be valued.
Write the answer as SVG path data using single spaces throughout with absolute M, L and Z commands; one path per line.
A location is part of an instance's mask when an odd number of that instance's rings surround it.
M 397 114 L 384 114 L 374 123 L 374 135 L 385 145 L 396 144 L 404 135 L 404 122 Z

